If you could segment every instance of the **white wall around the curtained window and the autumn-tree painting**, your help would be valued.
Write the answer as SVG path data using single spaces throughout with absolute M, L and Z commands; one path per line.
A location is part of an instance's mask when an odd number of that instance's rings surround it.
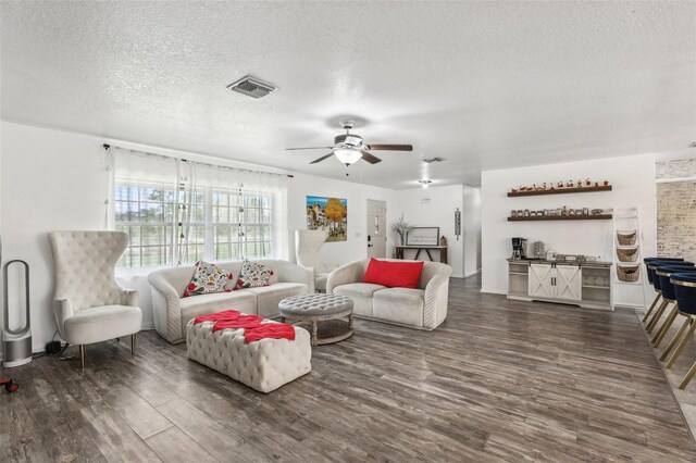
M 40 351 L 55 331 L 52 314 L 53 276 L 47 234 L 59 229 L 103 229 L 107 177 L 101 146 L 110 140 L 7 122 L 0 123 L 0 130 L 2 261 L 22 259 L 32 267 L 33 346 L 35 351 Z M 148 147 L 130 145 L 134 149 L 148 150 Z M 153 147 L 149 147 L 149 150 L 171 152 Z M 189 157 L 196 158 L 196 154 Z M 306 228 L 307 195 L 348 199 L 348 240 L 325 245 L 322 252 L 327 262 L 343 264 L 366 256 L 368 199 L 387 201 L 387 223 L 393 221 L 391 190 L 304 174 L 297 174 L 288 185 L 291 260 L 295 258 L 294 230 Z M 391 242 L 388 249 L 391 254 Z M 153 324 L 150 288 L 145 275 L 147 272 L 119 279 L 124 286 L 140 290 L 144 328 L 147 329 Z M 20 287 L 11 290 L 13 296 L 23 293 Z

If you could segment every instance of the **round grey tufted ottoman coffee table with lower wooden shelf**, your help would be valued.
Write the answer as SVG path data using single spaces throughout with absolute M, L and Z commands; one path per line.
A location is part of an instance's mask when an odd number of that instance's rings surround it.
M 338 295 L 300 295 L 283 299 L 278 303 L 281 322 L 309 322 L 312 324 L 312 346 L 328 345 L 343 341 L 352 336 L 352 299 Z M 320 338 L 318 336 L 318 323 L 324 321 L 337 321 L 348 317 L 348 323 L 340 329 L 341 333 Z

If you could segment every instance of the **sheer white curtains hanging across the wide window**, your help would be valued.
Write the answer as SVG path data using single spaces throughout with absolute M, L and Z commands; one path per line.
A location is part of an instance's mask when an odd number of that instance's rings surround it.
M 107 226 L 130 233 L 123 266 L 288 259 L 287 176 L 117 147 L 105 165 Z

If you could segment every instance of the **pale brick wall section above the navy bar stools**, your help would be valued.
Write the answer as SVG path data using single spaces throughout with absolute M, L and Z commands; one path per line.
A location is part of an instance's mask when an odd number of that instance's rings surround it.
M 696 182 L 657 184 L 657 254 L 696 262 Z

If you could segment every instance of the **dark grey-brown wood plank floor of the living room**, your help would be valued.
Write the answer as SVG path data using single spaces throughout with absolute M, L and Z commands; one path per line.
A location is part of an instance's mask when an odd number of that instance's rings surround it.
M 452 279 L 439 329 L 359 321 L 270 395 L 153 331 L 87 365 L 10 372 L 0 461 L 696 461 L 632 311 L 507 301 L 476 278 Z

